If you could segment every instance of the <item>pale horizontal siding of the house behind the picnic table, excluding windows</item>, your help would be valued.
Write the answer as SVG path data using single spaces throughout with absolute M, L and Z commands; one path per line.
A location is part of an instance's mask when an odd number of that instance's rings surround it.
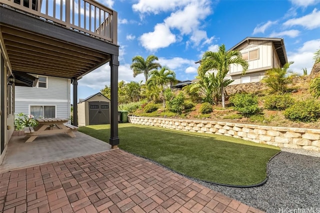
M 55 117 L 69 118 L 69 88 L 69 79 L 50 76 L 47 76 L 47 88 L 16 86 L 14 111 L 30 114 L 30 106 L 55 106 Z

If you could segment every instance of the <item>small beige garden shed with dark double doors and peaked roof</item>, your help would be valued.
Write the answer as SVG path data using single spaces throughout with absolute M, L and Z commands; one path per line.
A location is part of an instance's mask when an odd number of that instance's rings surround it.
M 110 99 L 100 92 L 80 99 L 77 107 L 78 126 L 110 123 Z

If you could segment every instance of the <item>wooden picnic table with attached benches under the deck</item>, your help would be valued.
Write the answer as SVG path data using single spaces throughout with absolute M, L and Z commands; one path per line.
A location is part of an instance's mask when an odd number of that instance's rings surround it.
M 24 134 L 29 137 L 25 143 L 32 142 L 39 135 L 54 135 L 57 133 L 66 133 L 70 137 L 75 137 L 73 131 L 77 131 L 78 127 L 66 124 L 68 119 L 65 118 L 37 118 L 35 119 L 39 125 L 35 128 L 25 127 Z

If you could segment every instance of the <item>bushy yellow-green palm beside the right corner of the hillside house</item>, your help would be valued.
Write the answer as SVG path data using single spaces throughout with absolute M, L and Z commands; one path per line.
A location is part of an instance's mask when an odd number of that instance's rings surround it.
M 271 93 L 283 94 L 287 91 L 288 84 L 292 83 L 292 77 L 296 76 L 295 73 L 289 70 L 289 66 L 292 63 L 293 61 L 290 61 L 285 63 L 282 68 L 277 67 L 265 71 L 261 81 L 271 89 Z

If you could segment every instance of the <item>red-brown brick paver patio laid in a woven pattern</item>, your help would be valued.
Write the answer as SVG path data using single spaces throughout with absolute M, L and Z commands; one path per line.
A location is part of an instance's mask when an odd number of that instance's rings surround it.
M 0 174 L 3 213 L 261 213 L 122 150 Z

